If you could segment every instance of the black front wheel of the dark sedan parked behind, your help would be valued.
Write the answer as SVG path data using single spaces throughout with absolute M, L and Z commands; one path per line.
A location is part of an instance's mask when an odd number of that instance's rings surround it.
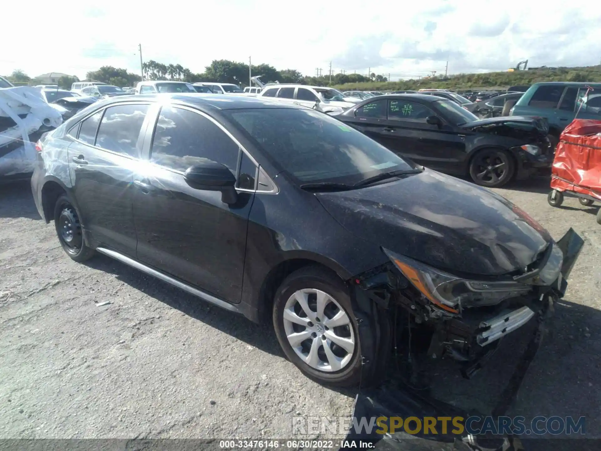
M 516 165 L 507 150 L 482 149 L 469 162 L 469 175 L 476 185 L 499 188 L 513 179 Z

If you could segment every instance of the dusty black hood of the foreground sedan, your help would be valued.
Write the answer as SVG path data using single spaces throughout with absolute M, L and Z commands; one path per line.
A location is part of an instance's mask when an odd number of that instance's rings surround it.
M 522 272 L 552 241 L 505 198 L 431 170 L 316 195 L 350 233 L 457 274 Z

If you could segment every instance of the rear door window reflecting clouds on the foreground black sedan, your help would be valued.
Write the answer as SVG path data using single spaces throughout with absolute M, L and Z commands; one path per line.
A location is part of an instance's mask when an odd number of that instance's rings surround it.
M 96 146 L 138 158 L 138 137 L 147 111 L 148 105 L 107 108 L 98 129 Z

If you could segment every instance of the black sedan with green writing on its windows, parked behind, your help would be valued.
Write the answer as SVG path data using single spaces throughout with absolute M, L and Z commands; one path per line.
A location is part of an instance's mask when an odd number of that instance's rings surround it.
M 541 118 L 480 120 L 451 100 L 398 94 L 364 100 L 336 116 L 370 138 L 426 167 L 478 185 L 525 179 L 553 161 Z

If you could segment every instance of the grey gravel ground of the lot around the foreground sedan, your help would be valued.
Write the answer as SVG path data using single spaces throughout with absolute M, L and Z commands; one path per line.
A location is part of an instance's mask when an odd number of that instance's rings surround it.
M 597 207 L 552 208 L 548 186 L 498 190 L 554 238 L 585 240 L 510 414 L 586 416 L 601 437 Z M 506 340 L 471 381 L 442 361 L 436 396 L 490 410 L 522 343 Z M 0 438 L 285 438 L 293 416 L 349 416 L 354 396 L 302 376 L 269 327 L 105 256 L 72 262 L 28 182 L 0 186 Z

